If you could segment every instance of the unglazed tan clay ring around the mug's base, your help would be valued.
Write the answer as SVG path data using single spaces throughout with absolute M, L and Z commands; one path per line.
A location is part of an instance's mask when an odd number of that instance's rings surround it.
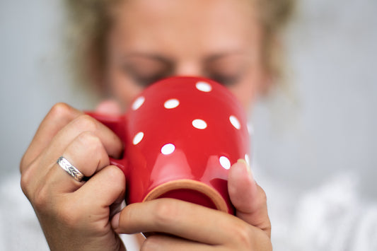
M 148 202 L 152 199 L 156 199 L 162 194 L 175 189 L 192 189 L 197 192 L 201 192 L 212 200 L 217 210 L 228 212 L 228 206 L 226 206 L 226 203 L 224 202 L 224 199 L 223 197 L 221 197 L 219 192 L 217 192 L 212 187 L 209 187 L 209 185 L 196 180 L 173 180 L 163 183 L 162 185 L 153 188 L 151 192 L 146 195 L 143 202 Z

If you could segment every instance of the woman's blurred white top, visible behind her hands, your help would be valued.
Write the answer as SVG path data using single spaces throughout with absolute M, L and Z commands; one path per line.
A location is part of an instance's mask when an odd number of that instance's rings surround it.
M 377 250 L 377 204 L 359 199 L 351 173 L 310 191 L 294 191 L 262 176 L 257 182 L 267 193 L 274 250 Z M 49 250 L 19 184 L 19 175 L 12 175 L 0 185 L 0 250 Z M 122 239 L 127 250 L 138 250 L 129 235 Z

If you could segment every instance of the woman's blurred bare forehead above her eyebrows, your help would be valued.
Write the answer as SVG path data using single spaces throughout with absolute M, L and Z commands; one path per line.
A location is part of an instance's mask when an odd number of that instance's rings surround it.
M 259 27 L 251 0 L 129 0 L 117 6 L 112 39 L 124 48 L 187 54 L 250 45 Z M 192 50 L 192 51 L 190 51 Z

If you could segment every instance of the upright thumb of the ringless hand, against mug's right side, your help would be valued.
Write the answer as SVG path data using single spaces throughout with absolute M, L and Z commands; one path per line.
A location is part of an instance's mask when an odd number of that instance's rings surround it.
M 267 213 L 267 197 L 257 185 L 245 160 L 232 165 L 228 175 L 228 192 L 236 208 L 236 216 L 271 235 L 271 223 Z

